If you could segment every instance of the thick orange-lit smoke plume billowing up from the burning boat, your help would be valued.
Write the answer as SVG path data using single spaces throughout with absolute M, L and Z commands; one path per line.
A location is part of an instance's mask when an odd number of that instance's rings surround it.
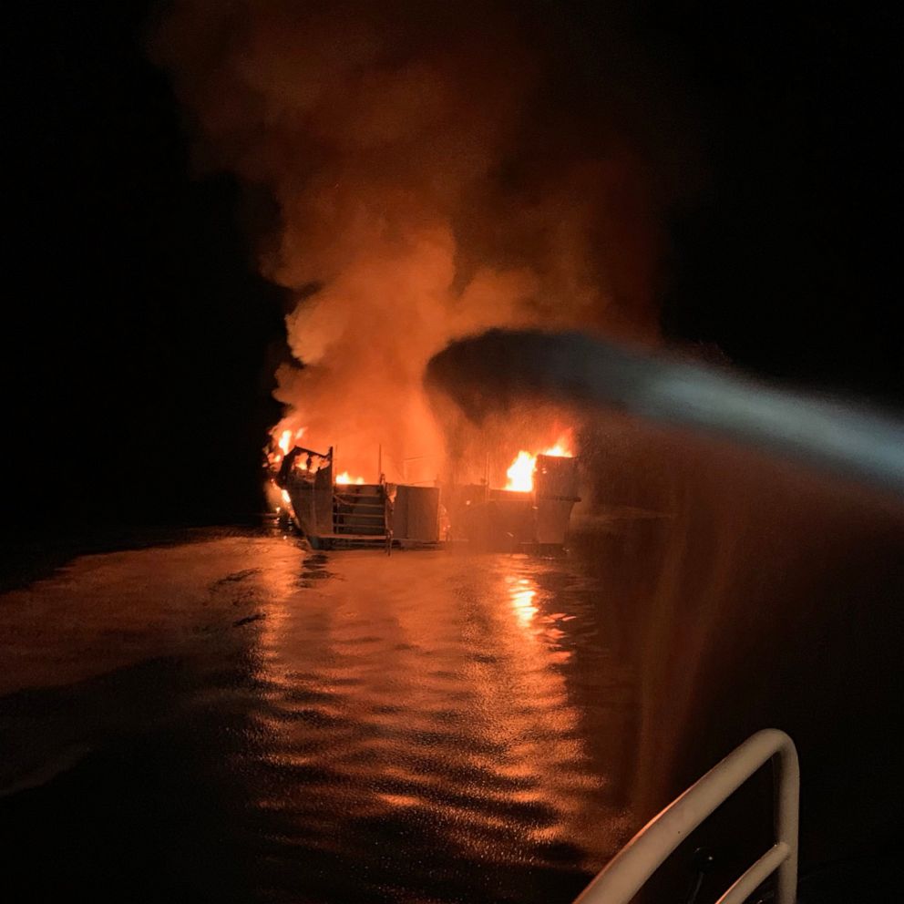
M 671 190 L 645 119 L 670 140 L 669 103 L 627 44 L 581 46 L 563 8 L 177 0 L 166 15 L 153 53 L 201 165 L 279 205 L 261 267 L 296 294 L 298 364 L 277 374 L 276 433 L 303 427 L 366 478 L 378 445 L 389 478 L 432 477 L 447 443 L 422 377 L 450 339 L 654 336 Z M 555 420 L 519 420 L 535 434 L 519 445 L 550 443 Z

